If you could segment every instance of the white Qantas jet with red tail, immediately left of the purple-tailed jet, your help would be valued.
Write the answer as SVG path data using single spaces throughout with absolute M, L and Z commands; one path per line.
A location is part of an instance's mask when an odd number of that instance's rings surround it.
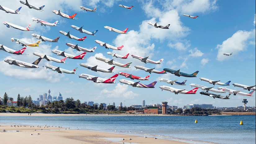
M 115 74 L 114 76 L 110 77 L 109 79 L 104 79 L 104 78 L 101 78 L 101 77 L 92 76 L 92 75 L 82 73 L 82 74 L 79 75 L 79 78 L 82 77 L 82 78 L 85 78 L 87 80 L 91 80 L 95 83 L 115 84 L 114 81 L 115 81 L 117 76 L 118 76 L 118 74 Z

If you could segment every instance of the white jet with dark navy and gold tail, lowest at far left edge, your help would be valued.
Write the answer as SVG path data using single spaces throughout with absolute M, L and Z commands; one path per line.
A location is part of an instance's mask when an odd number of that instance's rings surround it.
M 11 58 L 7 58 L 4 59 L 5 62 L 9 63 L 9 64 L 13 64 L 19 67 L 23 67 L 23 68 L 40 68 L 38 65 L 38 63 L 42 60 L 42 58 L 38 58 L 36 61 L 34 61 L 34 63 L 27 63 L 27 62 L 23 62 L 23 61 L 19 61 L 16 59 L 11 59 Z

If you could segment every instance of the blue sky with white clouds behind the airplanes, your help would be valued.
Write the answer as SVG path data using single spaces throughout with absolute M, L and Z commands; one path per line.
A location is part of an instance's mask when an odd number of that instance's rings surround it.
M 25 1 L 25 0 L 24 0 Z M 255 85 L 255 1 L 217 1 L 217 0 L 147 0 L 147 1 L 121 1 L 121 0 L 62 0 L 62 1 L 37 1 L 29 0 L 30 4 L 43 8 L 44 11 L 29 9 L 21 4 L 19 0 L 12 2 L 0 0 L 0 5 L 16 10 L 22 7 L 21 14 L 10 14 L 0 10 L 0 21 L 10 22 L 26 27 L 31 24 L 30 29 L 34 31 L 21 31 L 14 28 L 7 28 L 0 25 L 0 44 L 14 50 L 20 50 L 23 46 L 11 41 L 12 37 L 35 43 L 38 41 L 32 37 L 32 33 L 54 39 L 60 37 L 60 42 L 41 42 L 39 47 L 29 47 L 25 50 L 26 55 L 13 55 L 0 50 L 0 97 L 6 92 L 9 97 L 16 100 L 17 95 L 29 96 L 36 100 L 39 95 L 51 90 L 52 96 L 58 96 L 59 92 L 63 99 L 73 97 L 81 102 L 93 101 L 94 103 L 106 103 L 118 106 L 120 102 L 123 106 L 129 107 L 133 104 L 142 105 L 145 100 L 146 105 L 162 104 L 168 102 L 170 106 L 182 107 L 186 104 L 213 104 L 215 107 L 237 107 L 242 106 L 242 100 L 247 99 L 247 106 L 255 106 L 256 100 L 249 96 L 234 96 L 230 99 L 210 98 L 199 94 L 174 94 L 159 88 L 161 85 L 171 86 L 177 89 L 191 90 L 189 84 L 199 84 L 206 87 L 214 85 L 205 81 L 200 81 L 200 77 L 226 83 L 231 81 L 229 89 L 241 90 L 234 87 L 233 83 L 253 86 Z M 134 6 L 128 10 L 118 5 Z M 88 7 L 97 12 L 83 11 L 79 7 Z M 77 20 L 70 20 L 54 14 L 53 10 L 60 10 L 67 15 L 77 13 Z M 197 19 L 183 16 L 188 14 L 198 15 Z M 45 20 L 50 23 L 59 21 L 58 27 L 41 26 L 32 21 L 32 17 Z M 155 28 L 148 22 L 157 22 L 160 25 L 170 24 L 169 29 Z M 70 27 L 76 25 L 83 26 L 83 29 L 93 32 L 98 30 L 96 36 L 80 33 Z M 128 28 L 126 34 L 111 32 L 104 26 L 110 26 L 119 30 Z M 69 39 L 58 31 L 70 31 L 70 34 L 82 38 L 84 41 Z M 106 49 L 95 43 L 95 40 L 104 41 L 113 46 L 124 45 L 122 50 Z M 66 63 L 56 63 L 42 59 L 38 66 L 50 64 L 56 67 L 72 70 L 78 67 L 77 74 L 65 74 L 52 71 L 46 68 L 22 68 L 9 65 L 4 62 L 5 58 L 17 59 L 20 61 L 33 63 L 38 56 L 33 52 L 39 52 L 56 59 L 64 57 L 51 52 L 53 49 L 65 51 L 73 55 L 80 55 L 83 52 L 66 46 L 66 43 L 78 44 L 78 46 L 91 49 L 97 46 L 95 53 L 87 53 L 85 59 L 66 59 Z M 128 59 L 114 58 L 107 55 L 107 52 L 114 52 L 118 55 L 129 53 Z M 231 56 L 224 56 L 223 53 L 233 53 Z M 138 59 L 133 59 L 131 55 L 141 57 L 149 56 L 149 59 L 158 61 L 164 59 L 161 64 L 143 63 Z M 81 67 L 80 63 L 109 69 L 109 65 L 95 59 L 103 57 L 114 59 L 119 63 L 129 63 L 131 68 L 121 68 L 116 66 L 114 73 L 94 72 Z M 199 71 L 197 77 L 177 77 L 171 73 L 156 74 L 151 73 L 148 81 L 140 81 L 142 84 L 150 84 L 157 81 L 155 88 L 137 88 L 131 85 L 120 83 L 120 79 L 128 79 L 119 75 L 115 84 L 101 84 L 79 78 L 79 74 L 89 74 L 102 78 L 110 78 L 118 72 L 125 72 L 132 75 L 145 77 L 149 73 L 134 68 L 135 65 L 146 68 L 155 68 L 162 71 L 164 68 L 188 74 Z M 159 79 L 186 81 L 186 85 L 170 85 L 160 82 Z M 132 80 L 137 82 L 137 80 Z M 220 85 L 215 85 L 214 88 Z M 210 91 L 209 91 L 210 92 Z M 248 90 L 242 92 L 248 93 Z M 213 93 L 213 92 L 212 92 Z M 217 93 L 218 94 L 218 93 Z M 222 94 L 226 96 L 226 94 Z M 255 92 L 254 92 L 255 95 Z

